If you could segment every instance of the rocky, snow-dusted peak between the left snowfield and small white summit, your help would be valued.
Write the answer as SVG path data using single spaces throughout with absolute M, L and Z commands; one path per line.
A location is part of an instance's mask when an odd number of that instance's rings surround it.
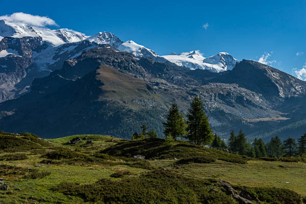
M 123 43 L 117 36 L 110 32 L 99 32 L 86 40 L 97 44 L 109 44 L 116 48 Z

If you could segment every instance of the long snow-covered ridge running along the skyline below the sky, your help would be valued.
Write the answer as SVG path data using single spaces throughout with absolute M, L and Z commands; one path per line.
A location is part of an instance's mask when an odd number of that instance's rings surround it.
M 178 66 L 189 69 L 207 69 L 212 72 L 220 72 L 231 70 L 235 67 L 236 60 L 228 53 L 219 53 L 215 56 L 205 58 L 198 50 L 192 52 L 181 53 L 180 55 L 166 55 L 159 56 L 154 50 L 149 49 L 143 45 L 137 44 L 133 40 L 121 41 L 117 36 L 110 32 L 99 32 L 93 36 L 87 36 L 83 33 L 69 30 L 58 29 L 50 30 L 47 28 L 33 27 L 22 22 L 12 22 L 8 20 L 0 20 L 0 41 L 4 37 L 42 37 L 42 41 L 51 44 L 52 46 L 61 46 L 65 43 L 75 43 L 81 41 L 89 41 L 96 44 L 110 44 L 115 48 L 132 53 L 136 57 L 152 58 L 158 62 L 172 62 Z M 2 57 L 11 54 L 3 51 Z M 48 54 L 48 58 L 53 58 Z M 37 56 L 37 55 L 35 55 Z M 42 59 L 42 61 L 44 61 Z M 46 61 L 46 60 L 45 60 Z

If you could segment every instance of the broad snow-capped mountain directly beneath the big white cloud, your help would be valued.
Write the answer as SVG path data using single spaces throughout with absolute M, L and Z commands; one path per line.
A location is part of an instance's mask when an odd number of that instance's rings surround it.
M 14 38 L 22 37 L 42 37 L 43 41 L 57 46 L 67 42 L 80 42 L 88 38 L 83 33 L 69 29 L 50 30 L 47 28 L 33 27 L 21 22 L 11 22 L 0 20 L 0 36 L 11 36 Z M 1 39 L 0 39 L 1 40 Z

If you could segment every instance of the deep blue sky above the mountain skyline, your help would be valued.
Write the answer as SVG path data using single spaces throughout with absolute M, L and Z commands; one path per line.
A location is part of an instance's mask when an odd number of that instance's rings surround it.
M 15 12 L 48 16 L 59 28 L 87 35 L 109 31 L 159 55 L 195 49 L 205 57 L 227 52 L 238 60 L 258 61 L 264 55 L 262 62 L 290 74 L 296 68 L 306 78 L 306 1 L 0 0 L 0 4 L 0 16 Z

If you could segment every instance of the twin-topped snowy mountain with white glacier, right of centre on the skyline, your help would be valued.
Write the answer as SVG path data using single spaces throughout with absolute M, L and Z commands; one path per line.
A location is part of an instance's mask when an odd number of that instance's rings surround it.
M 198 50 L 179 55 L 173 53 L 161 57 L 178 66 L 189 69 L 208 69 L 212 72 L 232 70 L 236 62 L 239 62 L 228 53 L 218 53 L 217 55 L 205 58 Z

